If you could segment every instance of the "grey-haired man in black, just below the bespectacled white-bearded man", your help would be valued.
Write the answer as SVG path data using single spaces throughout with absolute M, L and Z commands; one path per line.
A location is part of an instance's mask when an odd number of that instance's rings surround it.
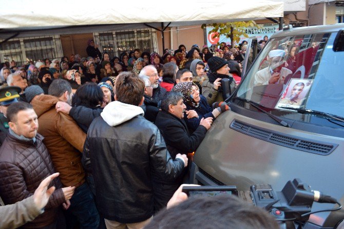
M 155 101 L 155 99 L 152 98 L 153 88 L 150 83 L 149 77 L 141 76 L 140 78 L 141 80 L 143 80 L 145 84 L 144 102 L 142 105 L 142 109 L 144 111 L 143 117 L 145 117 L 145 119 L 149 120 L 150 122 L 154 123 L 159 112 L 158 103 Z

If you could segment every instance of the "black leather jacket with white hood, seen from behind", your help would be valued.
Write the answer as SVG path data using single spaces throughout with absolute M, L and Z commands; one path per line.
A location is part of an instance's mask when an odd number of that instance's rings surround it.
M 141 222 L 153 214 L 152 178 L 176 179 L 184 169 L 173 160 L 158 127 L 143 110 L 109 103 L 87 132 L 84 157 L 90 156 L 99 213 L 121 223 Z

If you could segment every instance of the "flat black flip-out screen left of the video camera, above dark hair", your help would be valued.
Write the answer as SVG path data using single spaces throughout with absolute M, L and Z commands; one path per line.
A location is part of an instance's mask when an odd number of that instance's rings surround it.
M 218 185 L 218 186 L 184 186 L 183 193 L 187 196 L 207 196 L 213 197 L 220 194 L 237 195 L 237 186 L 235 185 Z

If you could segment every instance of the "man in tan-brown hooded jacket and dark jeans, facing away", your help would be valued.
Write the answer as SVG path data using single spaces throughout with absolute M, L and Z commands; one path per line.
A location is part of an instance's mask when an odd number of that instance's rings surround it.
M 55 110 L 57 102 L 71 104 L 71 99 L 70 84 L 58 79 L 50 84 L 48 94 L 35 97 L 31 104 L 38 116 L 39 133 L 44 136 L 44 144 L 63 186 L 76 187 L 67 212 L 77 217 L 81 228 L 97 228 L 99 214 L 81 163 L 86 134 L 68 114 Z

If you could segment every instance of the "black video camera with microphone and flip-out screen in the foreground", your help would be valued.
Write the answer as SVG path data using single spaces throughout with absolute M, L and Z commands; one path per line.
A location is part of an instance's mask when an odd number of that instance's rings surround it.
M 264 208 L 280 221 L 280 228 L 295 228 L 294 223 L 304 224 L 309 216 L 318 212 L 338 211 L 340 203 L 322 193 L 311 190 L 310 186 L 300 179 L 288 181 L 281 192 L 276 192 L 270 184 L 255 184 L 250 191 L 238 191 L 235 185 L 231 186 L 184 186 L 183 192 L 188 196 L 203 195 L 216 196 L 219 194 L 234 194 L 244 201 Z M 337 203 L 339 207 L 311 212 L 313 202 Z

